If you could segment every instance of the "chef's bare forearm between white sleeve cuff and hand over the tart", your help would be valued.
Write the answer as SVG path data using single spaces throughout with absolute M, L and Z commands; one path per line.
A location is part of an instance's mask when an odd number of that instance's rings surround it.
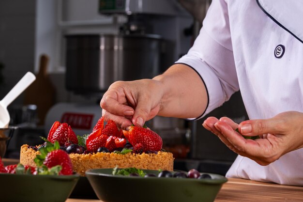
M 206 87 L 199 75 L 185 64 L 174 64 L 154 80 L 163 83 L 158 115 L 195 118 L 207 107 Z

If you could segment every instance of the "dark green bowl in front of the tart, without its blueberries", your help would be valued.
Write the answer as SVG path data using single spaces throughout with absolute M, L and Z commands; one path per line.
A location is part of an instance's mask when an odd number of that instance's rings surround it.
M 226 177 L 212 173 L 208 173 L 212 179 L 192 179 L 120 176 L 112 175 L 112 171 L 86 171 L 96 195 L 104 202 L 213 202 L 222 185 L 227 182 Z

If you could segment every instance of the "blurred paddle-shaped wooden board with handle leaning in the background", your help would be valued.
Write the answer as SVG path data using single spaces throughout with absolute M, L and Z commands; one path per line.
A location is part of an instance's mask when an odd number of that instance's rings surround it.
M 41 55 L 36 80 L 26 89 L 24 105 L 36 105 L 39 125 L 43 125 L 47 111 L 55 104 L 55 88 L 47 75 L 47 55 Z

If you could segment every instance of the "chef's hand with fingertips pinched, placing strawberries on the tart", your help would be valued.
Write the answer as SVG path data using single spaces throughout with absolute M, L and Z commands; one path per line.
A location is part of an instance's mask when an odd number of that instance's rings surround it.
M 122 129 L 132 124 L 142 126 L 157 115 L 162 89 L 162 82 L 153 79 L 114 82 L 100 102 L 102 116 Z

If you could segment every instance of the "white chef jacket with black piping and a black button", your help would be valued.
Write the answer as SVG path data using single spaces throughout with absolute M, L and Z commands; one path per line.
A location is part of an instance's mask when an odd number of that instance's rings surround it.
M 250 119 L 303 112 L 302 19 L 301 0 L 212 0 L 193 47 L 176 62 L 207 88 L 201 117 L 239 89 Z M 303 149 L 268 166 L 238 155 L 227 177 L 303 185 Z

